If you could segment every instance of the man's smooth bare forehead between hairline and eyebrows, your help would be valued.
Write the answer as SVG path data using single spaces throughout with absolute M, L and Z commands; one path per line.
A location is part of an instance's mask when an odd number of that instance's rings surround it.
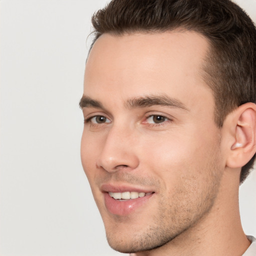
M 103 34 L 88 56 L 84 94 L 101 99 L 101 91 L 118 98 L 165 93 L 182 99 L 193 91 L 203 96 L 209 92 L 201 75 L 207 49 L 204 36 L 193 31 Z

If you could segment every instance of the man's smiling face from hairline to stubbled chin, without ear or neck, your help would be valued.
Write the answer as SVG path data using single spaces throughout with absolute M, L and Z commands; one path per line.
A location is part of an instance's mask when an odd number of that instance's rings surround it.
M 90 52 L 81 159 L 116 250 L 161 246 L 214 205 L 224 163 L 207 47 L 191 31 L 103 34 Z

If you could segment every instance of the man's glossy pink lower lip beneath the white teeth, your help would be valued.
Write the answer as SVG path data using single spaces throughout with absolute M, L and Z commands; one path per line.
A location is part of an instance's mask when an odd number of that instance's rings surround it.
M 115 200 L 107 192 L 104 193 L 105 206 L 109 212 L 115 215 L 125 216 L 141 207 L 153 194 L 129 200 Z

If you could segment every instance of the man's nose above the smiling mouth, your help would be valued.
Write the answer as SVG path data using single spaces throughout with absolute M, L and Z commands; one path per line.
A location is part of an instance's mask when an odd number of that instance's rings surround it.
M 107 172 L 135 169 L 139 164 L 136 145 L 136 138 L 131 130 L 113 126 L 102 145 L 96 161 L 97 167 L 102 167 Z

